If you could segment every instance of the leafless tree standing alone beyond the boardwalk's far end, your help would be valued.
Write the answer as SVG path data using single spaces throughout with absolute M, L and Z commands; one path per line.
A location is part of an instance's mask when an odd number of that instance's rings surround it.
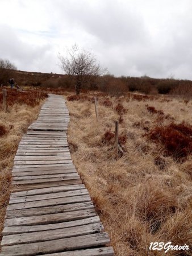
M 85 82 L 105 72 L 104 69 L 101 70 L 95 56 L 90 51 L 80 50 L 76 44 L 68 49 L 65 57 L 59 53 L 59 60 L 61 69 L 76 80 L 76 94 L 80 94 L 80 89 Z

